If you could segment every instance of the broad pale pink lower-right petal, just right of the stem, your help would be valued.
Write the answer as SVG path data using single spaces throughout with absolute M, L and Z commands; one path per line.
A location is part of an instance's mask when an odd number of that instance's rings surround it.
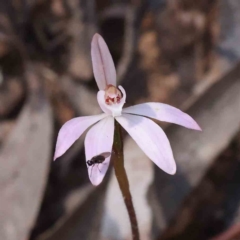
M 152 120 L 123 114 L 116 120 L 135 140 L 143 152 L 163 171 L 175 174 L 176 163 L 166 134 Z

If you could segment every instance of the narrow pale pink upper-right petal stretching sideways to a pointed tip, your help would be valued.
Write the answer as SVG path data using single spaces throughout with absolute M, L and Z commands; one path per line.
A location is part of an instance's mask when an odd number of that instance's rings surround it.
M 164 122 L 176 123 L 186 128 L 200 130 L 195 120 L 181 110 L 164 103 L 143 103 L 124 108 L 124 113 L 142 115 Z

